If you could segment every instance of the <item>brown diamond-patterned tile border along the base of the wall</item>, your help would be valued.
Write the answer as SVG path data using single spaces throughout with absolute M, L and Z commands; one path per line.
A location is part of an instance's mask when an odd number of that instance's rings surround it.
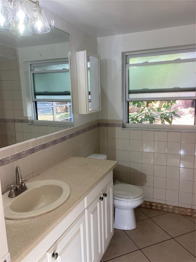
M 195 217 L 195 209 L 144 201 L 140 207 Z

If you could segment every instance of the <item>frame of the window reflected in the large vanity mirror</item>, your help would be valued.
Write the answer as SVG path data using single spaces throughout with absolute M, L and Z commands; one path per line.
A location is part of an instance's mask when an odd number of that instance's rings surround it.
M 56 69 L 56 70 L 41 70 L 41 71 L 34 71 L 34 66 L 36 65 L 58 65 L 58 64 L 62 64 L 62 63 L 66 63 L 69 65 L 69 69 Z M 65 126 L 65 127 L 72 127 L 74 126 L 74 122 L 73 122 L 73 105 L 72 105 L 72 94 L 71 94 L 71 77 L 70 77 L 70 99 L 36 99 L 35 98 L 35 93 L 34 93 L 34 81 L 33 81 L 33 74 L 36 73 L 46 73 L 46 72 L 70 72 L 70 61 L 69 60 L 65 60 L 65 59 L 60 59 L 58 61 L 42 61 L 42 62 L 32 62 L 29 64 L 30 65 L 30 89 L 31 89 L 31 99 L 32 99 L 32 108 L 33 108 L 33 124 L 42 124 L 42 125 L 52 125 L 52 126 Z M 37 114 L 37 102 L 69 102 L 70 103 L 70 117 L 69 119 L 71 119 L 72 121 L 60 121 L 60 120 L 39 120 L 36 119 L 38 118 L 38 114 Z M 52 103 L 54 104 L 54 103 Z M 55 109 L 56 106 L 51 106 L 50 108 L 52 108 L 53 111 L 53 116 L 55 119 Z

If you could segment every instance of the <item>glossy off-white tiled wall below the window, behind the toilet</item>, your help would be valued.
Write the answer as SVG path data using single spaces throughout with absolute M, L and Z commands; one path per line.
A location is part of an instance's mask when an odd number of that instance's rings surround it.
M 100 152 L 119 160 L 114 179 L 142 186 L 145 200 L 195 208 L 195 133 L 100 127 L 103 138 Z

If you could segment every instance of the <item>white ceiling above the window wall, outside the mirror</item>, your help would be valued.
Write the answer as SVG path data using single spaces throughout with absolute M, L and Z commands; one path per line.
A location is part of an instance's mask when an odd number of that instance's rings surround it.
M 195 0 L 40 0 L 96 37 L 195 24 Z

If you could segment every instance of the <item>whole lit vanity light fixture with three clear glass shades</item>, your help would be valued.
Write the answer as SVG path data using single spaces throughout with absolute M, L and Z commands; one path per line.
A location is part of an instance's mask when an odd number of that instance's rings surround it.
M 28 8 L 27 1 L 36 4 L 32 14 Z M 48 33 L 50 26 L 39 1 L 0 0 L 0 29 L 9 29 L 10 33 L 19 36 L 29 36 L 32 33 Z

